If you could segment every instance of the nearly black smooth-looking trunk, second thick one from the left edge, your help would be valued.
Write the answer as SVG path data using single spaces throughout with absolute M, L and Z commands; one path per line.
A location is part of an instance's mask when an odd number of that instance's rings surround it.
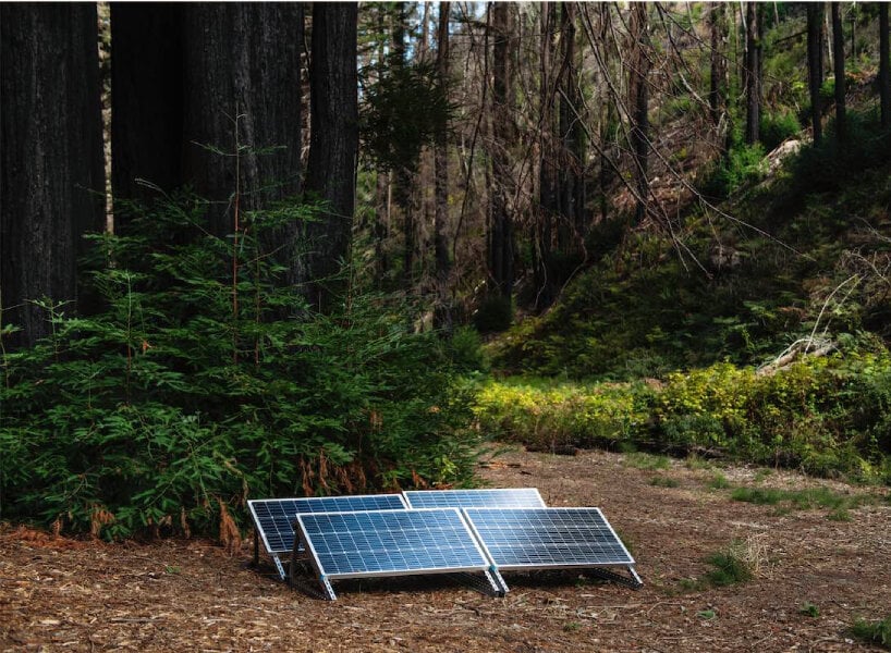
M 148 200 L 183 184 L 183 5 L 111 3 L 111 189 Z M 115 231 L 125 226 L 115 215 Z

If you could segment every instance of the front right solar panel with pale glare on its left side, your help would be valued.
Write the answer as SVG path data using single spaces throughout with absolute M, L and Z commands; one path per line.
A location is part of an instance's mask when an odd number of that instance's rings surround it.
M 625 566 L 634 558 L 599 508 L 465 508 L 471 528 L 499 571 Z

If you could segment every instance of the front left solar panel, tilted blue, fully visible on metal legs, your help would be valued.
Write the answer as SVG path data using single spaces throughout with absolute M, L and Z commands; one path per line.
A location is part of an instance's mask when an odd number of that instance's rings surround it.
M 415 574 L 478 571 L 502 591 L 456 508 L 301 514 L 296 519 L 304 555 L 331 600 L 337 597 L 334 579 Z

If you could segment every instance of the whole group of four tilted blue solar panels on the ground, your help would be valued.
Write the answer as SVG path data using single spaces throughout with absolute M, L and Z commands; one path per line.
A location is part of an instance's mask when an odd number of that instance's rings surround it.
M 332 600 L 333 579 L 411 574 L 481 572 L 496 593 L 508 591 L 500 570 L 517 569 L 597 568 L 632 587 L 643 584 L 599 508 L 549 508 L 535 488 L 248 504 L 282 578 L 279 554 L 291 552 L 292 580 L 297 563 L 309 562 Z M 626 567 L 631 581 L 603 569 L 609 566 Z

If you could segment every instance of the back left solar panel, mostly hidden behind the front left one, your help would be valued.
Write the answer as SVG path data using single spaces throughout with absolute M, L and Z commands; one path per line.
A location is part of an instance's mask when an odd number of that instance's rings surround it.
M 282 579 L 284 568 L 280 554 L 290 553 L 294 545 L 294 516 L 297 513 L 331 513 L 342 510 L 396 510 L 406 507 L 401 494 L 357 494 L 352 496 L 303 496 L 297 498 L 259 498 L 247 502 L 267 553 L 272 556 Z M 255 542 L 254 557 L 257 557 Z

